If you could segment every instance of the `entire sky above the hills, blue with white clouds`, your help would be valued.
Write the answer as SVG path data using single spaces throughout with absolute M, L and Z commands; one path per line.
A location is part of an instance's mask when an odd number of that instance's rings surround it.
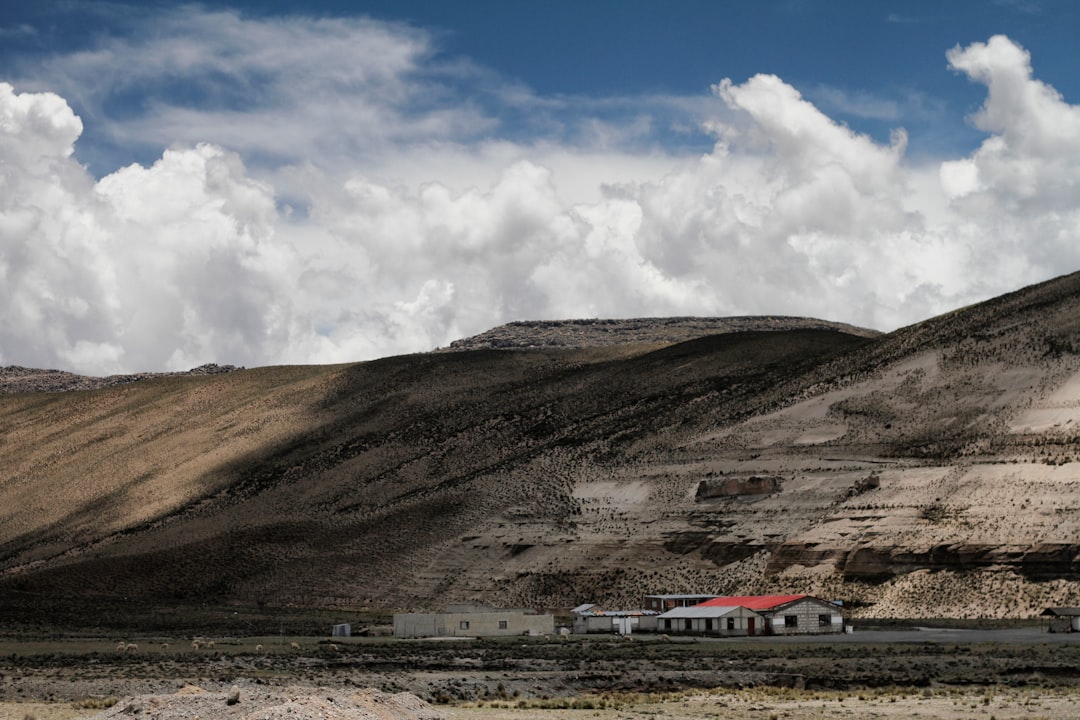
M 0 366 L 892 330 L 1080 270 L 1070 0 L 0 0 Z

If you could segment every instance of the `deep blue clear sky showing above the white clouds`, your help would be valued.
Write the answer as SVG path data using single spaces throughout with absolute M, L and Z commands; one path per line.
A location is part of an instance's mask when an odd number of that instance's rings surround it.
M 184 6 L 5 0 L 0 68 L 33 79 L 28 85 L 48 87 L 49 74 L 36 69 L 42 59 L 93 52 L 106 38 L 153 33 L 159 12 Z M 1067 98 L 1080 95 L 1075 42 L 1080 8 L 1067 0 L 259 0 L 189 6 L 259 19 L 366 16 L 401 24 L 428 36 L 433 64 L 475 64 L 539 96 L 622 100 L 606 110 L 591 109 L 616 122 L 632 117 L 636 97 L 705 97 L 723 78 L 739 82 L 756 73 L 777 74 L 831 117 L 881 141 L 893 128 L 906 128 L 915 157 L 969 152 L 982 140 L 966 117 L 984 93 L 948 69 L 945 51 L 955 45 L 1004 32 L 1038 53 L 1040 79 Z M 106 110 L 124 117 L 159 98 L 205 107 L 214 101 L 202 94 L 206 80 L 117 89 Z M 502 123 L 498 132 L 507 137 L 543 132 L 497 98 L 483 97 L 473 84 L 454 90 L 489 103 Z M 78 97 L 68 100 L 77 112 L 83 110 Z M 160 152 L 152 145 L 106 148 L 92 123 L 83 138 L 79 157 L 96 174 L 152 161 Z M 103 147 L 94 147 L 98 140 Z M 648 141 L 680 150 L 712 145 L 707 136 L 672 132 L 663 123 Z

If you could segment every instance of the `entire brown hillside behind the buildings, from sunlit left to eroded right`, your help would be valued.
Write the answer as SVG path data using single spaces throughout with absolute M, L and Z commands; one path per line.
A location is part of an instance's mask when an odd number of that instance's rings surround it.
M 0 589 L 1080 604 L 1078 310 L 1069 275 L 883 336 L 818 321 L 529 343 L 521 325 L 514 347 L 537 348 L 8 394 Z

